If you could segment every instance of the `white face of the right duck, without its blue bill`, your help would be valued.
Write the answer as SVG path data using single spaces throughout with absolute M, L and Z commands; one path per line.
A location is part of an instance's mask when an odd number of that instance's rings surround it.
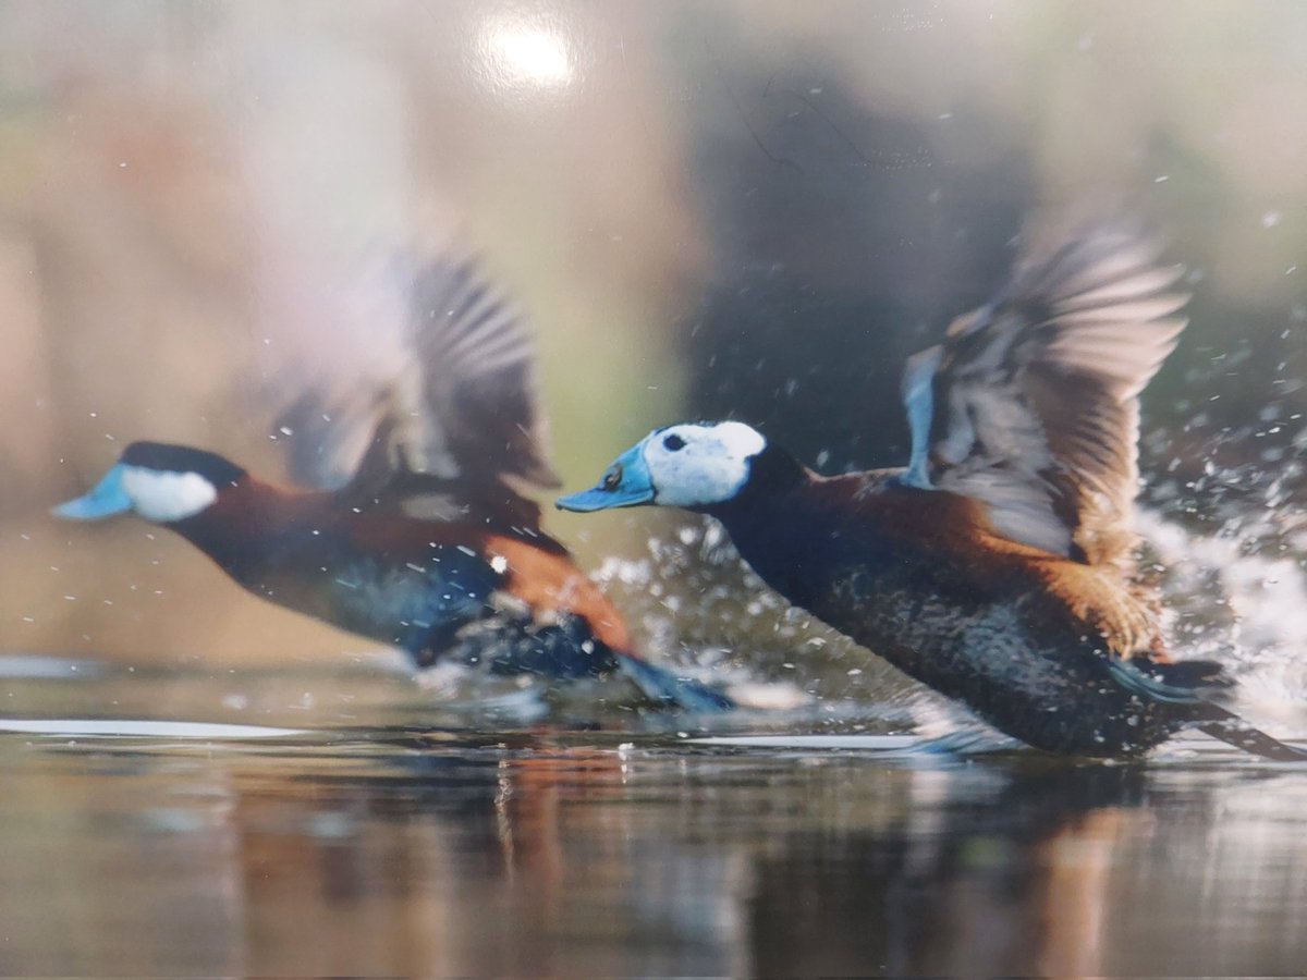
M 749 460 L 767 440 L 744 422 L 680 425 L 644 443 L 655 503 L 703 507 L 735 497 L 749 481 Z

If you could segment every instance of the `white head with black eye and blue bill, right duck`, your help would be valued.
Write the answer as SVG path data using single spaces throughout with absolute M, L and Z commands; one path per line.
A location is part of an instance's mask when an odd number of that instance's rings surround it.
M 566 511 L 642 503 L 711 507 L 735 499 L 767 440 L 744 422 L 686 422 L 656 429 L 623 452 L 591 490 L 561 497 Z

